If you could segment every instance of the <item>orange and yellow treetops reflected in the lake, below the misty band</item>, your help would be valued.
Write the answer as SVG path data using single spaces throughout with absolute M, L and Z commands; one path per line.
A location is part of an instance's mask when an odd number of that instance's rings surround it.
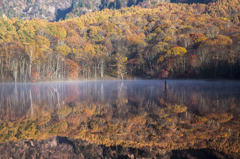
M 41 139 L 47 136 L 66 135 L 105 145 L 158 146 L 163 149 L 175 149 L 199 148 L 196 143 L 206 139 L 218 137 L 228 139 L 231 136 L 228 130 L 223 129 L 227 121 L 219 121 L 218 124 L 222 124 L 220 126 L 222 128 L 218 127 L 215 130 L 209 127 L 210 122 L 206 121 L 211 119 L 218 122 L 216 116 L 211 116 L 209 119 L 208 116 L 204 117 L 205 123 L 196 127 L 195 124 L 192 125 L 191 119 L 181 120 L 181 115 L 178 116 L 172 111 L 173 106 L 157 107 L 152 103 L 147 108 L 140 107 L 139 110 L 135 107 L 136 105 L 131 106 L 129 103 L 123 103 L 122 107 L 120 104 L 109 107 L 107 104 L 96 105 L 86 101 L 76 103 L 73 111 L 66 105 L 54 112 L 46 112 L 44 107 L 34 106 L 34 117 L 24 119 L 21 123 L 1 124 L 1 140 Z M 153 112 L 148 111 L 148 108 L 157 109 Z M 120 113 L 116 115 L 116 112 Z M 64 115 L 65 118 L 55 121 L 49 127 L 41 127 L 50 122 L 55 113 Z M 200 117 L 196 119 L 202 120 Z M 206 146 L 200 144 L 201 148 Z

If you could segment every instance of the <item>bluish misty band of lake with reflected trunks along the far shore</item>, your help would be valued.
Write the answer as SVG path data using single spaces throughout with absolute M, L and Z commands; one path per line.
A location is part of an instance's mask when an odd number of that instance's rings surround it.
M 165 103 L 184 104 L 188 110 L 228 111 L 240 103 L 240 82 L 203 80 L 79 81 L 0 84 L 0 115 L 9 120 L 34 108 L 53 111 L 81 103 L 104 104 L 110 109 L 137 107 L 154 111 Z M 234 113 L 239 112 L 235 106 Z

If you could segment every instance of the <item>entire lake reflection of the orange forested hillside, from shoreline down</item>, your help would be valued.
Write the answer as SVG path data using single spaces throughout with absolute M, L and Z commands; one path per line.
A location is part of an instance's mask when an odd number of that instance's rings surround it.
M 240 82 L 0 84 L 0 141 L 72 137 L 105 146 L 240 150 Z

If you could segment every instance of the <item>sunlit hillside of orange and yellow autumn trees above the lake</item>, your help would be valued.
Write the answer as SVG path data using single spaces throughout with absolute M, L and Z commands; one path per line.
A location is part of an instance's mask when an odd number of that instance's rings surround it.
M 240 1 L 0 19 L 0 80 L 240 78 Z

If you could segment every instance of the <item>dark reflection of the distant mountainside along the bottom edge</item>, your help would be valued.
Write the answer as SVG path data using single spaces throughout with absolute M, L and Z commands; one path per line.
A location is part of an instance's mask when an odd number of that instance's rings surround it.
M 64 142 L 62 141 L 64 140 Z M 16 151 L 11 152 L 10 149 Z M 212 149 L 189 149 L 159 151 L 149 149 L 149 147 L 132 148 L 118 146 L 104 146 L 86 142 L 81 139 L 66 137 L 51 137 L 40 142 L 30 140 L 18 144 L 0 144 L 0 157 L 10 158 L 121 158 L 121 159 L 141 159 L 141 158 L 164 158 L 164 159 L 230 159 L 237 156 L 220 153 Z M 48 153 L 51 152 L 51 153 Z

